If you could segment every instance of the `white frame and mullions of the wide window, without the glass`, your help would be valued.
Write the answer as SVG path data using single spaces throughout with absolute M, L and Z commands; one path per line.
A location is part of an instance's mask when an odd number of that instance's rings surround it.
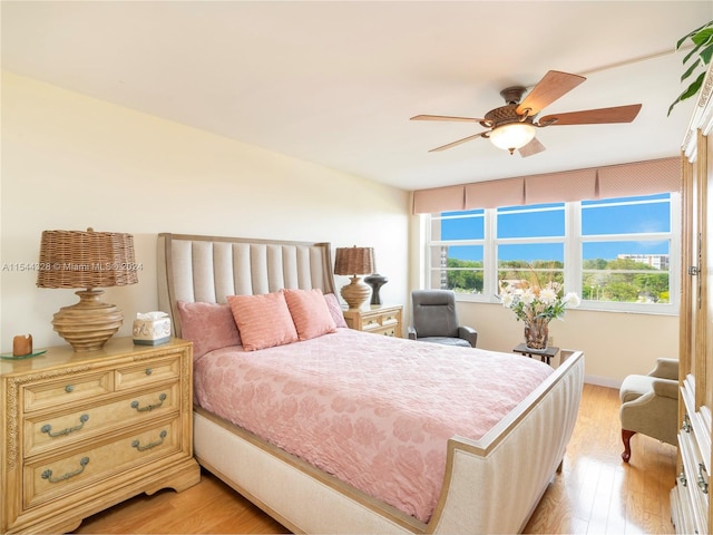
M 497 289 L 497 247 L 508 243 L 564 243 L 564 289 L 566 292 L 576 292 L 582 298 L 579 309 L 592 311 L 627 312 L 639 314 L 663 314 L 678 315 L 680 289 L 681 289 L 681 194 L 671 192 L 670 197 L 670 232 L 653 233 L 626 233 L 626 234 L 597 234 L 582 235 L 582 202 L 570 201 L 564 204 L 565 232 L 564 236 L 545 236 L 527 239 L 498 239 L 497 216 L 498 208 L 484 208 L 485 232 L 482 240 L 431 240 L 433 228 L 433 217 L 440 218 L 440 214 L 422 214 L 426 232 L 424 243 L 424 284 L 430 288 L 432 271 L 431 251 L 440 245 L 481 245 L 482 246 L 482 270 L 484 288 L 482 293 L 459 293 L 456 292 L 456 300 L 476 303 L 499 303 Z M 645 195 L 641 195 L 645 196 Z M 626 198 L 626 197 L 622 197 Z M 546 203 L 557 204 L 557 203 Z M 527 205 L 521 207 L 528 210 Z M 537 208 L 535 208 L 537 210 Z M 585 208 L 588 210 L 588 208 Z M 445 211 L 453 214 L 458 211 Z M 469 212 L 469 211 L 463 211 Z M 587 242 L 606 241 L 641 241 L 641 240 L 670 241 L 668 249 L 668 303 L 637 303 L 619 301 L 593 301 L 585 299 L 583 289 L 583 251 Z

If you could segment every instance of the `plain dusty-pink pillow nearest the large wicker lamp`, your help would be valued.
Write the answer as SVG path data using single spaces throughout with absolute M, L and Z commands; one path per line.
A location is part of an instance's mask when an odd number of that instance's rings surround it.
M 240 346 L 241 335 L 227 304 L 178 301 L 180 335 L 193 342 L 193 359 L 214 349 Z

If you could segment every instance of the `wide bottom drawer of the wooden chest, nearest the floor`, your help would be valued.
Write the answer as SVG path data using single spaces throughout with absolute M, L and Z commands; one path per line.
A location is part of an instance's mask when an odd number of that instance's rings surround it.
M 86 486 L 110 485 L 113 476 L 179 451 L 180 432 L 180 418 L 176 416 L 95 447 L 27 463 L 23 508 L 70 495 Z

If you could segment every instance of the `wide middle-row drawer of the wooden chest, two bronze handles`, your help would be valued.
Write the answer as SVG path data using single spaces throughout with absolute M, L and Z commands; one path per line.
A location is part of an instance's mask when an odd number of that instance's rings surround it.
M 87 407 L 65 415 L 28 417 L 25 420 L 25 455 L 64 448 L 78 440 L 165 416 L 177 411 L 178 402 L 179 385 L 175 382 L 98 406 L 85 403 Z

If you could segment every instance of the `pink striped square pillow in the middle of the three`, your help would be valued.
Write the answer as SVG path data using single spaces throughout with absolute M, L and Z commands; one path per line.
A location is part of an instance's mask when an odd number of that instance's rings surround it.
M 228 295 L 227 302 L 245 350 L 255 351 L 299 340 L 283 292 Z

